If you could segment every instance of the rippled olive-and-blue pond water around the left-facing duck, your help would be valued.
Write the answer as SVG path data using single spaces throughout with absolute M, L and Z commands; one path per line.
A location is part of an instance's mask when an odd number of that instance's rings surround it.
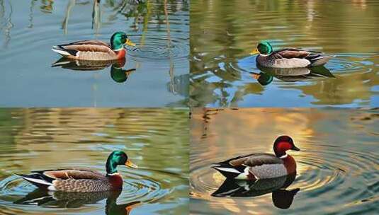
M 378 23 L 378 1 L 193 0 L 190 104 L 376 107 Z M 271 41 L 274 49 L 302 47 L 334 54 L 326 64 L 334 77 L 262 71 L 249 55 L 259 40 Z

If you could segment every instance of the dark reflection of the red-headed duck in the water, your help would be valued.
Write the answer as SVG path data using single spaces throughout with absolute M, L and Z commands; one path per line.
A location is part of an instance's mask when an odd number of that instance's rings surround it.
M 280 209 L 288 209 L 293 197 L 300 190 L 295 188 L 285 190 L 295 180 L 296 173 L 278 178 L 264 180 L 234 180 L 227 178 L 222 185 L 213 192 L 213 197 L 256 197 L 272 193 L 273 204 Z

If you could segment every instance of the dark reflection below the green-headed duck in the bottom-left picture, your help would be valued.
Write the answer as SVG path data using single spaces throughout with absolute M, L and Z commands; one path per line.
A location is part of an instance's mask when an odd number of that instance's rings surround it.
M 35 189 L 13 203 L 36 204 L 43 207 L 79 208 L 85 204 L 96 204 L 96 202 L 106 199 L 107 215 L 128 215 L 132 209 L 141 204 L 141 202 L 117 204 L 116 200 L 120 194 L 121 190 L 108 192 L 51 192 Z

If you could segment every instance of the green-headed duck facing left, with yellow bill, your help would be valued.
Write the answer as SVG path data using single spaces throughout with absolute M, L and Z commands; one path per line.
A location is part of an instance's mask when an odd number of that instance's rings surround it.
M 334 55 L 323 55 L 312 50 L 301 50 L 295 48 L 284 48 L 274 51 L 270 42 L 261 41 L 257 48 L 250 54 L 259 54 L 256 63 L 261 66 L 273 68 L 298 68 L 322 66 Z

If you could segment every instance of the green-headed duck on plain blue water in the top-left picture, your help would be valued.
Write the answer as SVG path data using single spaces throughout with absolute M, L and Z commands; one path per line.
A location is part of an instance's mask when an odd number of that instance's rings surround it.
M 111 37 L 111 45 L 101 40 L 81 40 L 52 47 L 54 52 L 71 59 L 109 61 L 125 57 L 124 45 L 135 46 L 123 32 Z

